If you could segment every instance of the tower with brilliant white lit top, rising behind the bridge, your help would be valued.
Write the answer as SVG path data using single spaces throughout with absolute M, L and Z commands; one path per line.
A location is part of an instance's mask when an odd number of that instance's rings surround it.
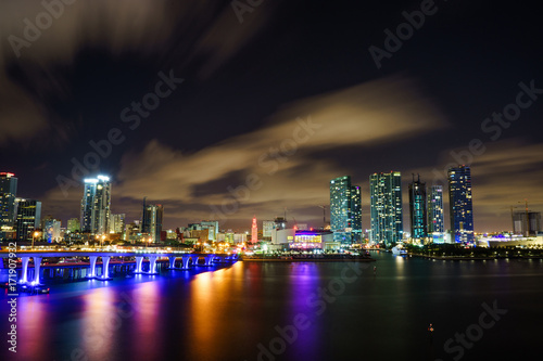
M 110 178 L 98 176 L 85 179 L 81 199 L 81 232 L 106 234 L 111 219 L 111 183 Z

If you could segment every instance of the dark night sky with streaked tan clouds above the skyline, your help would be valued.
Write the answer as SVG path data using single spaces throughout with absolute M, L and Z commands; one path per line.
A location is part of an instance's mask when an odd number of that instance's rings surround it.
M 400 170 L 408 231 L 412 173 L 444 184 L 452 164 L 471 166 L 476 232 L 509 230 L 525 198 L 543 210 L 536 2 L 53 2 L 49 17 L 40 1 L 0 2 L 0 171 L 63 227 L 86 159 L 112 177 L 113 212 L 138 219 L 147 196 L 166 228 L 245 230 L 285 208 L 320 227 L 329 180 L 350 175 L 367 229 L 369 175 Z M 418 29 L 401 25 L 421 9 Z M 37 17 L 41 34 L 25 30 Z M 413 34 L 387 42 L 399 25 Z M 504 108 L 515 120 L 492 120 Z

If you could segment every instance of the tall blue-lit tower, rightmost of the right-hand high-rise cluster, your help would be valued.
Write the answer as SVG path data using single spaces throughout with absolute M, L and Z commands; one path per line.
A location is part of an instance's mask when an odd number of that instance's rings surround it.
M 473 243 L 473 207 L 471 170 L 466 166 L 449 169 L 451 231 L 456 243 Z

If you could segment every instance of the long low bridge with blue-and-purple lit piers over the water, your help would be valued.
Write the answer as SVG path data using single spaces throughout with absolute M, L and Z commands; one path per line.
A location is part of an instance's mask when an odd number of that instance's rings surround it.
M 4 269 L 4 258 L 9 259 L 21 259 L 21 276 L 18 283 L 23 284 L 40 284 L 40 268 L 41 260 L 43 258 L 78 258 L 88 257 L 89 258 L 89 272 L 87 273 L 87 279 L 94 279 L 101 281 L 111 280 L 109 276 L 109 265 L 112 257 L 134 257 L 136 260 L 135 274 L 159 274 L 156 271 L 156 260 L 160 258 L 168 258 L 171 270 L 189 270 L 191 267 L 198 265 L 199 259 L 203 258 L 204 263 L 199 266 L 210 267 L 215 263 L 224 262 L 236 262 L 238 260 L 237 254 L 203 254 L 203 253 L 179 253 L 179 252 L 156 252 L 156 250 L 135 250 L 135 252 L 111 252 L 111 250 L 17 250 L 16 254 L 9 252 L 0 252 L 0 269 Z M 30 258 L 34 261 L 34 279 L 28 280 L 28 263 Z M 99 276 L 97 273 L 97 260 L 102 261 L 102 274 Z M 149 271 L 143 272 L 142 263 L 143 259 L 149 259 Z M 175 267 L 176 260 L 181 259 L 181 267 Z M 13 261 L 8 262 L 8 268 L 16 268 Z M 15 263 L 16 265 L 16 263 Z M 56 263 L 55 266 L 63 266 L 63 263 Z

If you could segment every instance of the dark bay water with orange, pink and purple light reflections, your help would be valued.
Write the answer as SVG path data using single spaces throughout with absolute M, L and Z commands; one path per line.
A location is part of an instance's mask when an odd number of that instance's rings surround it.
M 18 298 L 15 358 L 5 341 L 10 323 L 3 296 L 0 359 L 502 360 L 536 354 L 542 260 L 374 256 L 371 263 L 237 262 L 214 271 L 199 267 L 54 284 L 49 295 Z M 487 328 L 479 326 L 482 305 L 494 302 L 506 313 L 498 321 L 483 317 Z M 466 331 L 475 341 L 454 341 L 446 352 L 447 339 Z

